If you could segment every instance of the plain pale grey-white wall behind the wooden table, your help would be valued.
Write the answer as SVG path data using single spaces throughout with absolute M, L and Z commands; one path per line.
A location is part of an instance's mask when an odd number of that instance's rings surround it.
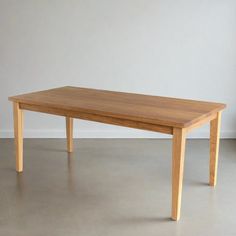
M 225 102 L 222 137 L 236 137 L 236 1 L 0 0 L 0 136 L 8 96 L 64 85 Z M 61 117 L 25 120 L 27 137 L 64 136 Z M 159 137 L 85 121 L 75 135 Z

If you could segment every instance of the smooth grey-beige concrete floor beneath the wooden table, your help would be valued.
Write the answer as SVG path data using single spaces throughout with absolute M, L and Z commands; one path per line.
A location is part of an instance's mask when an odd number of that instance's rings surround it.
M 182 212 L 170 220 L 171 141 L 26 139 L 24 173 L 0 140 L 0 236 L 236 235 L 236 140 L 208 186 L 208 141 L 187 142 Z

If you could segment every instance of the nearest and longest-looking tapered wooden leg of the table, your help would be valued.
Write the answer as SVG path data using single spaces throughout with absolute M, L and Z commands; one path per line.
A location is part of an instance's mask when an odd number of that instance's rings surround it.
M 186 132 L 174 128 L 172 154 L 172 219 L 179 220 L 184 170 Z

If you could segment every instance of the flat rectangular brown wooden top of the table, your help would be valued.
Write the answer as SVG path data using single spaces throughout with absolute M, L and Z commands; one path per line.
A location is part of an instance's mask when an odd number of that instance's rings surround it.
M 221 111 L 225 104 L 78 87 L 61 87 L 9 98 L 10 101 L 184 128 Z

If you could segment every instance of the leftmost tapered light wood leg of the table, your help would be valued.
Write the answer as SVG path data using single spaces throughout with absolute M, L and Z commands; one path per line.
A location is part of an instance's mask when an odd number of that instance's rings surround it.
M 16 171 L 23 171 L 23 111 L 19 103 L 13 103 Z

